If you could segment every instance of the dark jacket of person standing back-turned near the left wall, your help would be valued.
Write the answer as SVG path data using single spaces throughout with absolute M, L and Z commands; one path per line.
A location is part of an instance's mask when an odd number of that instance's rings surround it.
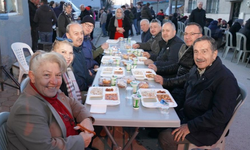
M 38 31 L 52 32 L 52 26 L 56 24 L 57 18 L 54 10 L 44 4 L 36 10 L 34 21 L 38 23 Z

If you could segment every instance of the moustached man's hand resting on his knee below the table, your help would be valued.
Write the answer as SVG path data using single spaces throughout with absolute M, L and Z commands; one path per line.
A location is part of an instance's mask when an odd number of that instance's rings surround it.
M 179 128 L 175 129 L 172 132 L 172 135 L 174 135 L 174 140 L 179 142 L 179 140 L 181 139 L 182 141 L 185 139 L 186 135 L 189 134 L 190 131 L 188 129 L 188 125 L 187 124 L 182 124 Z

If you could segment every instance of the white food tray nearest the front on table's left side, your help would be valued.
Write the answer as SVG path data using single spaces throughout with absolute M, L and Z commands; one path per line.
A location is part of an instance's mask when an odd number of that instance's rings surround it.
M 90 87 L 86 104 L 89 105 L 119 105 L 120 95 L 118 87 Z

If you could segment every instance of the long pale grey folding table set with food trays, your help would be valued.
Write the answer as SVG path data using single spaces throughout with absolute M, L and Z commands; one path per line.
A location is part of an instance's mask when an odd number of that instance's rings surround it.
M 115 65 L 113 65 L 115 67 Z M 99 78 L 101 74 L 101 68 L 98 70 L 92 86 L 99 86 Z M 124 67 L 121 63 L 120 67 Z M 137 65 L 137 68 L 147 68 L 144 65 Z M 131 75 L 131 72 L 126 72 L 125 75 Z M 147 81 L 152 89 L 162 89 L 162 86 L 154 81 Z M 130 85 L 128 85 L 130 86 Z M 107 106 L 107 112 L 104 114 L 95 114 L 92 116 L 95 118 L 94 125 L 103 126 L 106 130 L 109 138 L 112 143 L 117 147 L 117 150 L 122 149 L 118 146 L 115 139 L 107 129 L 107 126 L 121 126 L 121 127 L 136 127 L 134 134 L 130 140 L 126 143 L 123 149 L 127 149 L 128 146 L 132 143 L 136 135 L 139 133 L 139 127 L 179 127 L 180 119 L 177 116 L 174 108 L 170 108 L 169 114 L 161 114 L 160 109 L 158 108 L 145 108 L 140 103 L 138 109 L 133 108 L 132 100 L 126 99 L 126 89 L 120 88 L 120 105 L 116 106 Z M 90 105 L 86 104 L 87 108 L 90 109 Z

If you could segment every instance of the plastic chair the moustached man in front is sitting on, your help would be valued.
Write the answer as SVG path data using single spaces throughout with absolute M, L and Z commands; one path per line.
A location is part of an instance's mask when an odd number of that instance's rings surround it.
M 236 99 L 237 105 L 236 105 L 236 107 L 234 109 L 233 116 L 229 120 L 229 122 L 228 122 L 228 124 L 227 124 L 224 132 L 222 133 L 220 139 L 215 144 L 213 144 L 212 146 L 196 146 L 196 145 L 190 143 L 190 144 L 186 144 L 188 146 L 185 147 L 185 148 L 188 148 L 188 150 L 192 150 L 194 148 L 199 148 L 199 149 L 214 149 L 214 148 L 219 148 L 220 150 L 224 150 L 225 149 L 225 141 L 226 141 L 225 136 L 226 136 L 226 134 L 227 134 L 227 132 L 228 132 L 228 130 L 229 130 L 229 128 L 230 128 L 233 120 L 234 120 L 234 117 L 236 116 L 236 113 L 238 112 L 238 110 L 242 106 L 242 104 L 244 103 L 244 100 L 245 100 L 245 98 L 247 96 L 246 88 L 243 85 L 241 85 L 241 84 L 239 84 L 239 87 L 240 87 L 240 95 Z M 178 149 L 180 149 L 181 146 L 183 146 L 183 144 L 179 144 L 178 145 Z

